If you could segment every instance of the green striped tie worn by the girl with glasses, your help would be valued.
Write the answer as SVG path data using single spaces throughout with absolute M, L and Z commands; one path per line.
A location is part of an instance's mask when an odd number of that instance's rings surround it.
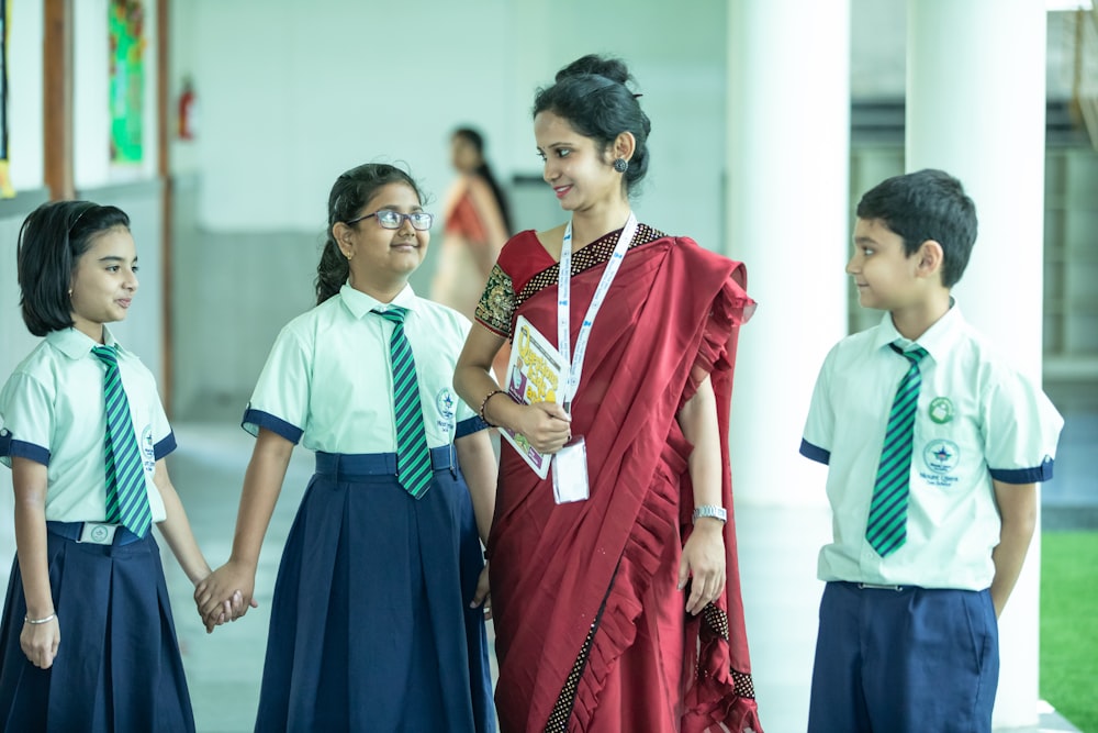
M 418 499 L 430 486 L 430 451 L 423 426 L 419 385 L 415 376 L 412 344 L 404 335 L 406 309 L 392 307 L 373 311 L 393 324 L 389 357 L 393 367 L 393 411 L 396 415 L 396 478 L 404 490 Z

